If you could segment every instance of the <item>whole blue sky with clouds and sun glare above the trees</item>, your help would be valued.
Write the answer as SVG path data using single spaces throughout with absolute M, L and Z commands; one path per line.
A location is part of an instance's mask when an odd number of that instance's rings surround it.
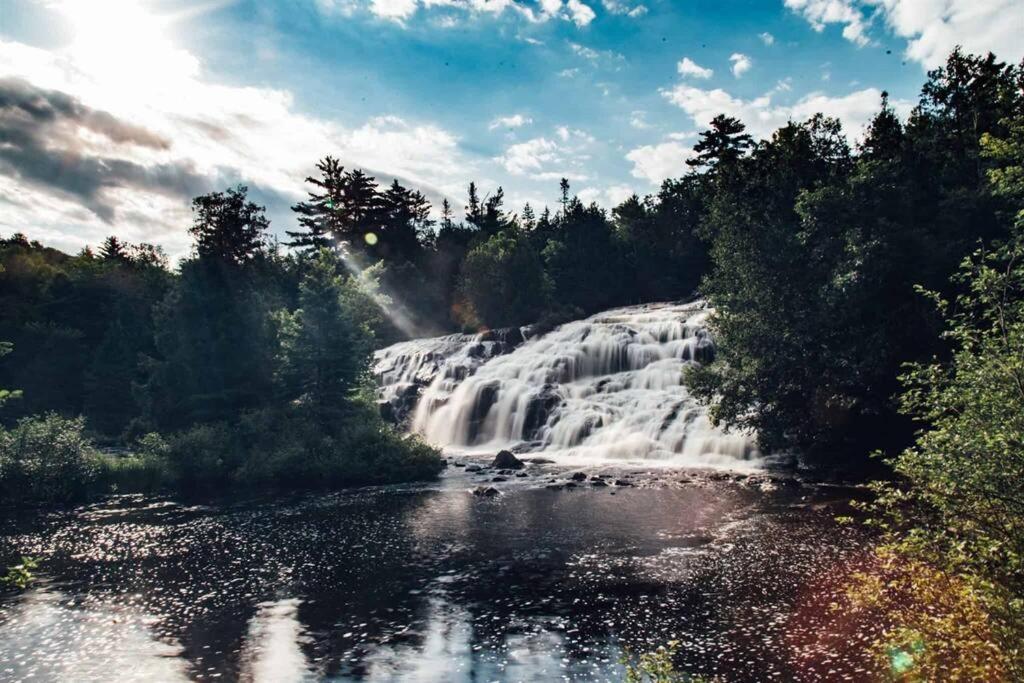
M 326 155 L 439 205 L 610 208 L 717 114 L 855 141 L 963 45 L 1024 56 L 1020 0 L 0 0 L 0 236 L 187 253 L 244 183 L 279 234 Z

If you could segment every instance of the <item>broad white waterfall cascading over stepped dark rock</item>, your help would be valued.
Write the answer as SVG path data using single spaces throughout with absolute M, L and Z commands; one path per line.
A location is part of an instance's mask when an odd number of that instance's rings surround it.
M 702 302 L 618 308 L 526 340 L 454 335 L 379 351 L 393 414 L 450 452 L 511 449 L 571 462 L 754 465 L 749 434 L 714 427 L 683 385 L 714 354 Z

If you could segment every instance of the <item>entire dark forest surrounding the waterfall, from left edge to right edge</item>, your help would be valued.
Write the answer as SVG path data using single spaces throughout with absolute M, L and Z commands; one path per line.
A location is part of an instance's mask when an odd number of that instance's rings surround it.
M 756 140 L 719 116 L 677 178 L 610 211 L 563 179 L 551 207 L 470 183 L 465 215 L 435 213 L 326 156 L 280 240 L 245 186 L 194 201 L 177 264 L 7 237 L 0 497 L 436 476 L 377 413 L 374 349 L 699 296 L 719 350 L 687 382 L 716 421 L 883 474 L 860 608 L 936 644 L 926 679 L 1020 676 L 1022 89 L 1024 67 L 957 50 L 862 134 L 818 115 Z

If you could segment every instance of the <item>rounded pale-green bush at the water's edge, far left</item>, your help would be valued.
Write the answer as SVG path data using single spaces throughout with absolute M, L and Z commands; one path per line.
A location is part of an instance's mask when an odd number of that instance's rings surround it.
M 0 499 L 65 503 L 84 498 L 99 473 L 99 456 L 84 428 L 82 418 L 49 413 L 0 430 Z

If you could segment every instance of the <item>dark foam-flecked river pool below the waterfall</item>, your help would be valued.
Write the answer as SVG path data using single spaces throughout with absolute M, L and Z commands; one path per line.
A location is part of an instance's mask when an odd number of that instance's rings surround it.
M 0 680 L 621 680 L 624 647 L 673 639 L 688 670 L 729 681 L 865 677 L 819 632 L 864 546 L 833 521 L 847 492 L 679 472 L 544 487 L 564 474 L 494 499 L 455 470 L 0 513 L 0 560 L 43 558 L 38 584 L 0 597 Z

